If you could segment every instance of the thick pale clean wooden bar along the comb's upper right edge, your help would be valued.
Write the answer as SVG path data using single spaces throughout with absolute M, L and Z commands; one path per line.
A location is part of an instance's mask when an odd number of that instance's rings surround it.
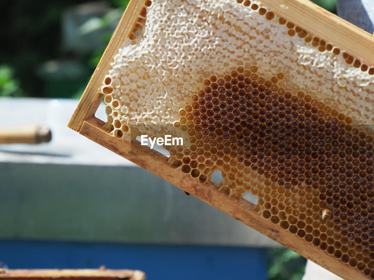
M 309 0 L 260 0 L 276 15 L 374 66 L 374 36 Z

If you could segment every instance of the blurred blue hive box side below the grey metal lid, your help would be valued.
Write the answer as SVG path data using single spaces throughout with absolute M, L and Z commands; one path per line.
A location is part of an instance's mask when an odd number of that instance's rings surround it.
M 223 246 L 0 240 L 0 262 L 18 268 L 142 270 L 157 279 L 267 279 L 267 249 Z

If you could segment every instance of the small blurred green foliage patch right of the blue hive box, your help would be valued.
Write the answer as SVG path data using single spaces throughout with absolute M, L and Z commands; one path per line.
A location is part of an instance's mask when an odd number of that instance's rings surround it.
M 301 280 L 306 259 L 286 248 L 269 249 L 269 280 Z

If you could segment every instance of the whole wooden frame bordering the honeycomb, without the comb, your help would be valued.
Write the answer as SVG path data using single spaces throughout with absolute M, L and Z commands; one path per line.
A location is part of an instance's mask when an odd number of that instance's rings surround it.
M 335 46 L 360 59 L 368 65 L 374 65 L 374 37 L 343 19 L 327 12 L 309 0 L 261 0 L 261 4 L 278 16 L 284 17 L 306 31 L 320 38 L 328 39 Z M 144 7 L 144 0 L 132 0 L 105 50 L 92 78 L 83 93 L 68 127 L 88 137 L 107 149 L 147 169 L 171 184 L 230 215 L 236 220 L 254 228 L 260 233 L 300 255 L 327 268 L 344 279 L 367 279 L 364 274 L 313 246 L 307 246 L 303 239 L 281 230 L 257 215 L 254 205 L 246 200 L 237 202 L 216 192 L 212 183 L 198 183 L 176 169 L 169 167 L 168 158 L 140 143 L 125 143 L 109 134 L 104 121 L 96 118 L 95 112 L 103 98 L 98 92 L 105 74 L 110 69 L 113 56 L 123 41 L 134 29 L 138 15 Z M 147 156 L 138 156 L 144 155 Z

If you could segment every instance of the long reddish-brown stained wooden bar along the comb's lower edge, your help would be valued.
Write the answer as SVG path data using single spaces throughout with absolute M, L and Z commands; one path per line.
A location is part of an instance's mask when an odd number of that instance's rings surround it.
M 318 248 L 307 245 L 303 239 L 298 238 L 296 235 L 289 234 L 277 225 L 260 217 L 254 212 L 251 203 L 245 203 L 245 200 L 237 202 L 236 200 L 220 194 L 215 190 L 214 184 L 212 183 L 198 183 L 186 175 L 181 174 L 177 169 L 171 168 L 167 164 L 168 158 L 166 156 L 147 146 L 141 146 L 140 143 L 137 142 L 126 143 L 119 141 L 116 137 L 108 134 L 108 131 L 102 128 L 102 125 L 104 125 L 103 121 L 96 117 L 91 117 L 83 122 L 79 133 L 152 172 L 165 181 L 196 196 L 203 202 L 230 215 L 243 224 L 265 234 L 292 251 L 327 268 L 338 276 L 347 280 L 367 279 L 361 272 L 334 259 L 334 257 L 328 255 L 326 252 L 322 252 Z

